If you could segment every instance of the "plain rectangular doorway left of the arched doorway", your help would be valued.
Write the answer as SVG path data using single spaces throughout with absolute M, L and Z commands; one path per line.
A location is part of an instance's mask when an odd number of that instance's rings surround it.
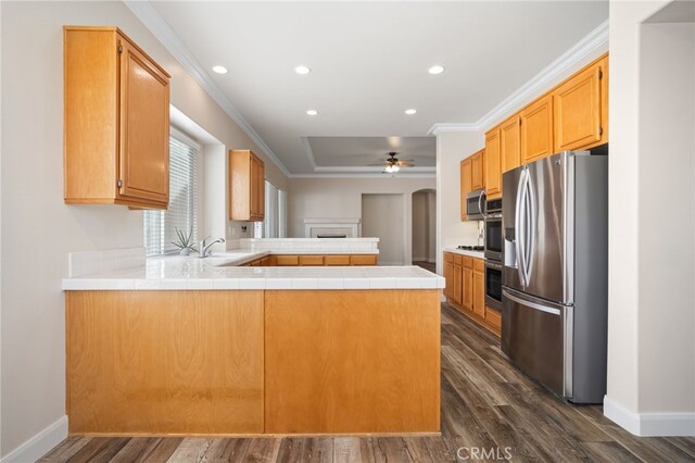
M 379 265 L 404 265 L 404 196 L 363 193 L 362 236 L 379 238 Z

